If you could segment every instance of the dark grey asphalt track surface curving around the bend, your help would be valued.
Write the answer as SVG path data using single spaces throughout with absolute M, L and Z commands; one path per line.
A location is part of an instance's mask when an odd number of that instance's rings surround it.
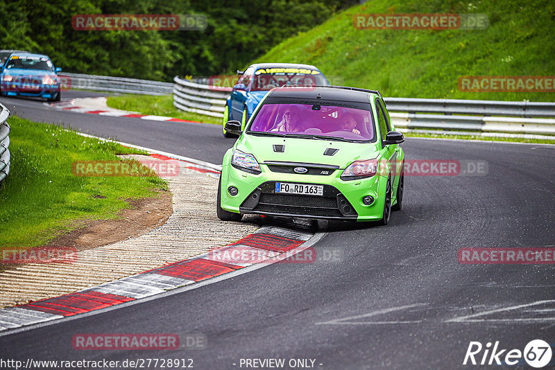
M 64 98 L 85 95 L 94 94 Z M 60 112 L 22 99 L 0 102 L 25 118 L 215 164 L 232 146 L 216 125 Z M 4 335 L 0 358 L 190 358 L 194 369 L 253 369 L 240 366 L 241 359 L 253 358 L 283 358 L 286 365 L 313 359 L 315 369 L 498 369 L 464 366 L 469 343 L 499 341 L 499 349 L 523 351 L 541 339 L 555 349 L 553 265 L 463 265 L 457 259 L 465 247 L 555 244 L 555 148 L 425 139 L 407 139 L 403 148 L 407 159 L 485 160 L 488 173 L 406 177 L 403 210 L 392 213 L 390 224 L 330 223 L 314 245 L 314 263 L 268 265 Z M 71 337 L 82 333 L 203 333 L 207 348 L 76 351 Z M 478 362 L 482 355 L 484 350 Z M 521 361 L 502 368 L 530 367 Z

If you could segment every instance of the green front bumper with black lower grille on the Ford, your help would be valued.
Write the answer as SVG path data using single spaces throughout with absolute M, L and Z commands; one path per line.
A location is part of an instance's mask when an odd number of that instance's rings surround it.
M 345 181 L 340 179 L 342 169 L 330 169 L 329 175 L 300 175 L 276 172 L 279 168 L 268 164 L 260 164 L 262 173 L 255 174 L 232 166 L 229 154 L 223 164 L 221 208 L 226 211 L 357 221 L 380 220 L 383 217 L 386 176 L 374 175 Z M 323 195 L 276 193 L 276 182 L 323 185 Z

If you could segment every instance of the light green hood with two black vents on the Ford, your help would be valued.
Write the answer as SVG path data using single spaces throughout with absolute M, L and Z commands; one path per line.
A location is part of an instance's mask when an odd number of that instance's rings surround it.
M 275 152 L 274 145 L 284 145 L 284 152 Z M 346 168 L 353 161 L 374 159 L 379 155 L 376 143 L 348 143 L 345 141 L 264 137 L 244 134 L 236 148 L 255 156 L 259 164 L 266 161 L 287 161 L 329 164 Z M 324 155 L 327 148 L 339 149 L 334 155 Z

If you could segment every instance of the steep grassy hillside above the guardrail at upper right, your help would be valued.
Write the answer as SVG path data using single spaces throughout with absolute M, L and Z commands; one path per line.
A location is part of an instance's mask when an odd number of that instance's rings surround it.
M 368 13 L 485 13 L 486 30 L 357 30 Z M 549 0 L 373 0 L 285 39 L 253 62 L 314 64 L 333 83 L 384 96 L 554 101 L 554 92 L 462 92 L 460 76 L 554 76 Z

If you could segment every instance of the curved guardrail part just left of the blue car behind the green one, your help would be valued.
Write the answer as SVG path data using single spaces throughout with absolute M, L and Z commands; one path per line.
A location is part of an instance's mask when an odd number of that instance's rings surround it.
M 225 99 L 230 95 L 230 87 L 198 84 L 177 76 L 173 78 L 173 82 L 173 105 L 176 108 L 223 118 Z

